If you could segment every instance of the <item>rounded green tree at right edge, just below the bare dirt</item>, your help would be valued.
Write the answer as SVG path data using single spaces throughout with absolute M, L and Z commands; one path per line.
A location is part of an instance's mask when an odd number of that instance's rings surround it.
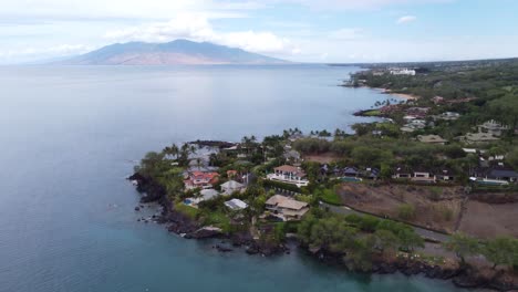
M 516 264 L 518 241 L 509 237 L 497 237 L 487 242 L 481 250 L 483 254 L 494 263 L 493 269 L 499 264 Z

